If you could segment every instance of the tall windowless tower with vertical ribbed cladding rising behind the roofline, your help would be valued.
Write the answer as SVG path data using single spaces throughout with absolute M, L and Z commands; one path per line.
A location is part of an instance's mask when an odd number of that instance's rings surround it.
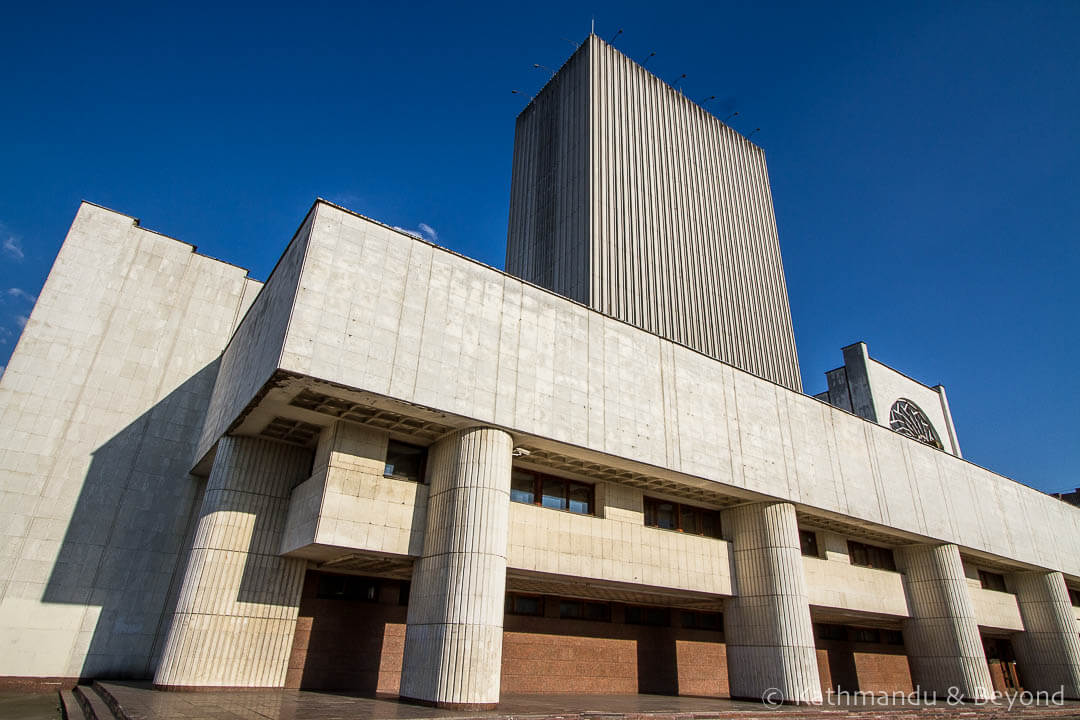
M 594 35 L 517 117 L 507 271 L 801 392 L 765 152 Z

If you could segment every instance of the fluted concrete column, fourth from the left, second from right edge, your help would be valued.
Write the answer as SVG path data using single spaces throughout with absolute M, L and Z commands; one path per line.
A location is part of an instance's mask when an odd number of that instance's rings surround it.
M 993 692 L 975 608 L 956 545 L 918 545 L 899 553 L 910 617 L 904 646 L 912 681 L 924 693 L 967 699 Z

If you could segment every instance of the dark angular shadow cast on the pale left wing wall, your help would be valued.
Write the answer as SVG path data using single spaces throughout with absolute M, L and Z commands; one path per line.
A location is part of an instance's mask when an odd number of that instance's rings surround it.
M 189 474 L 218 361 L 91 453 L 42 601 L 86 606 L 70 661 L 81 678 L 152 676 L 168 631 L 205 480 Z M 67 472 L 67 475 L 65 475 Z M 75 670 L 76 668 L 70 668 Z

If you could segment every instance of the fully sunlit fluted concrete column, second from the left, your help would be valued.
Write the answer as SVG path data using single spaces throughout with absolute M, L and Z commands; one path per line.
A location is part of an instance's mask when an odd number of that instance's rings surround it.
M 428 525 L 413 570 L 401 695 L 457 709 L 499 702 L 513 440 L 458 431 L 428 451 Z

